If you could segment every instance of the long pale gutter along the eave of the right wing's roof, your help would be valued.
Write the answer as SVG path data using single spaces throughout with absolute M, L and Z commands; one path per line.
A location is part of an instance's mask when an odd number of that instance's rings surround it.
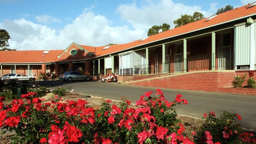
M 179 35 L 174 35 L 174 36 L 167 37 L 167 38 L 164 38 L 164 39 L 159 39 L 159 40 L 156 40 L 156 41 L 152 41 L 152 42 L 148 42 L 148 43 L 141 44 L 141 45 L 138 45 L 138 46 L 134 46 L 134 47 L 131 47 L 131 48 L 127 48 L 127 49 L 125 49 L 125 50 L 129 50 L 129 49 L 136 48 L 136 47 L 139 47 L 139 46 L 143 46 L 143 45 L 146 45 L 146 44 L 150 44 L 150 43 L 162 41 L 162 40 L 165 40 L 165 39 L 170 39 L 170 38 L 173 38 L 173 37 L 185 35 L 185 34 L 188 34 L 188 33 L 193 33 L 193 32 L 195 32 L 195 31 L 205 30 L 205 29 L 208 29 L 208 28 L 212 28 L 212 27 L 215 27 L 215 26 L 219 26 L 219 25 L 222 25 L 222 24 L 229 23 L 229 22 L 234 22 L 234 21 L 236 21 L 236 20 L 241 20 L 241 19 L 243 19 L 243 18 L 252 17 L 252 16 L 255 16 L 255 15 L 256 15 L 256 13 L 253 13 L 253 14 L 250 14 L 250 15 L 247 15 L 247 16 L 244 16 L 244 17 L 240 17 L 240 18 L 228 20 L 228 21 L 226 21 L 226 22 L 222 22 L 222 23 L 219 23 L 219 24 L 214 24 L 214 25 L 212 25 L 212 26 L 208 26 L 208 27 L 205 27 L 205 28 L 201 28 L 201 29 L 189 31 L 189 32 L 186 32 L 186 33 L 181 33 L 181 34 L 179 34 Z M 119 51 L 117 51 L 117 52 L 122 52 L 122 51 L 123 51 L 123 50 L 119 50 Z M 113 53 L 117 53 L 117 52 L 113 52 Z M 97 57 L 103 57 L 103 56 L 110 55 L 110 54 L 113 54 L 113 53 L 109 53 L 109 54 L 105 54 L 105 55 L 100 55 L 100 56 L 97 56 Z M 95 58 L 97 58 L 97 57 L 89 58 L 89 59 L 87 59 L 87 60 L 95 59 Z

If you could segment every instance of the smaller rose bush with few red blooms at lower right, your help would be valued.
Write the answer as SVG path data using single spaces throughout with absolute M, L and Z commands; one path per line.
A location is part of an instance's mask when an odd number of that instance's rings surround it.
M 219 116 L 215 117 L 215 113 L 210 112 L 204 114 L 204 124 L 197 130 L 195 139 L 199 144 L 205 144 L 208 140 L 205 131 L 210 132 L 214 142 L 221 142 L 222 144 L 234 144 L 239 140 L 239 135 L 242 132 L 241 126 L 237 124 L 236 118 L 241 120 L 238 114 L 231 114 L 226 111 Z

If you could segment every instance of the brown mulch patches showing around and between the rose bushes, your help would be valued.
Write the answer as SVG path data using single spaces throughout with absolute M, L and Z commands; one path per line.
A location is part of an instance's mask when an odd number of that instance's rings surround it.
M 45 102 L 50 102 L 51 99 L 54 99 L 54 94 L 52 93 L 48 93 L 46 94 L 46 96 L 41 97 L 43 99 L 45 99 L 43 101 L 43 103 Z M 88 96 L 85 94 L 80 94 L 80 93 L 76 93 L 76 92 L 67 92 L 64 96 L 61 96 L 61 98 L 63 99 L 63 102 L 66 100 L 78 100 L 78 99 L 82 99 L 82 100 L 86 100 L 88 102 L 88 107 L 94 107 L 95 109 L 97 109 L 98 107 L 100 107 L 101 103 L 108 100 L 106 98 L 101 98 L 98 96 Z M 115 105 L 119 105 L 120 101 L 117 100 L 111 100 L 112 104 Z M 5 101 L 5 103 L 11 103 L 11 101 Z M 135 105 L 133 104 L 132 107 L 135 107 Z M 200 119 L 196 119 L 196 118 L 191 118 L 191 117 L 187 117 L 187 116 L 177 116 L 178 119 L 181 120 L 181 123 L 185 126 L 185 133 L 189 138 L 192 138 L 192 131 L 195 131 L 198 127 L 200 127 L 202 125 L 202 120 Z M 0 134 L 0 144 L 10 144 L 11 143 L 11 137 L 14 136 L 15 133 L 7 133 L 4 135 Z

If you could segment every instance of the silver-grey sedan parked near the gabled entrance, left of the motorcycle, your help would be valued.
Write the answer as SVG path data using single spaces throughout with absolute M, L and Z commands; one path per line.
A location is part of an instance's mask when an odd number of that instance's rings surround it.
M 80 72 L 65 72 L 64 74 L 59 76 L 59 79 L 62 79 L 63 81 L 72 81 L 72 80 L 91 80 L 91 76 L 84 75 Z

